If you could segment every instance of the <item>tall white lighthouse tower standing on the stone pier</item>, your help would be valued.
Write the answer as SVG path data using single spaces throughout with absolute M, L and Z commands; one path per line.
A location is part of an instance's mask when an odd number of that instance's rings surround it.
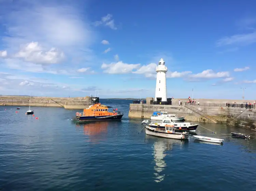
M 167 92 L 166 92 L 166 72 L 167 67 L 165 66 L 165 61 L 161 58 L 158 66 L 156 67 L 156 94 L 155 102 L 160 104 L 160 102 L 167 102 Z

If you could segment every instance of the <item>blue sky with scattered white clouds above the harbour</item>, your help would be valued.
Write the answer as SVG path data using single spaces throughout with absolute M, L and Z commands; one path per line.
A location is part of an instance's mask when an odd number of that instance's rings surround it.
M 0 94 L 255 99 L 255 1 L 0 0 Z

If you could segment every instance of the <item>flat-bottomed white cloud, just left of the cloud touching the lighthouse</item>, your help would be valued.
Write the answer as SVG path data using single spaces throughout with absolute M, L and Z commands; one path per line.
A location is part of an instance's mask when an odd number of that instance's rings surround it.
M 103 63 L 101 65 L 101 68 L 104 69 L 104 73 L 109 74 L 125 74 L 125 73 L 131 73 L 134 69 L 138 69 L 140 67 L 140 64 L 126 64 L 122 61 L 119 61 L 117 63 L 111 63 L 111 64 L 105 64 Z

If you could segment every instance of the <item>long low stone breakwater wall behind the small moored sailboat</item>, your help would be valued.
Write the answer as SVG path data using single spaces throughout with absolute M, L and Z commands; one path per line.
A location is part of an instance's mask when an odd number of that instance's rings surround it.
M 28 96 L 0 96 L 0 104 L 7 106 L 29 106 Z M 91 97 L 56 98 L 31 97 L 30 106 L 63 107 L 65 109 L 84 109 L 91 104 Z

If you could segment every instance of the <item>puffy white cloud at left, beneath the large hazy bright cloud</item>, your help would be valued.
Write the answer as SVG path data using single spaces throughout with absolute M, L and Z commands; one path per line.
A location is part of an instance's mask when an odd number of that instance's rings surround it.
M 44 51 L 38 42 L 30 42 L 22 46 L 15 57 L 23 58 L 25 61 L 35 64 L 56 64 L 64 58 L 64 54 L 55 48 Z

